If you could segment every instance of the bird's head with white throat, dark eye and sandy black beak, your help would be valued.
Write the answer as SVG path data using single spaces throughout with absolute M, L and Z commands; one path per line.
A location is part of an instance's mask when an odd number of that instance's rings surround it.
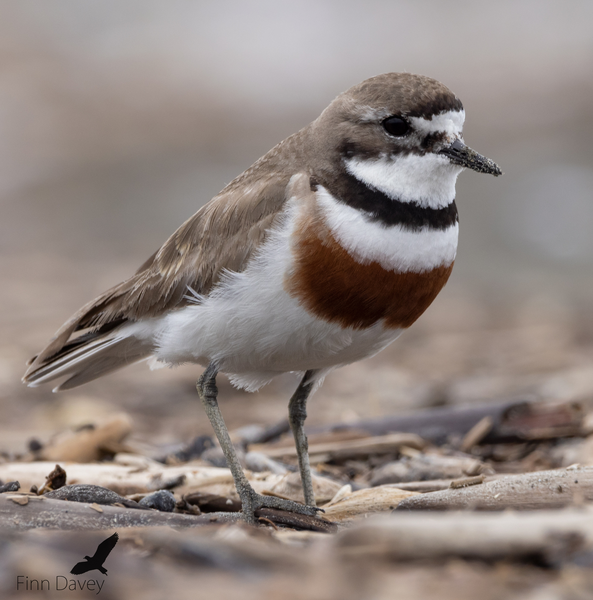
M 502 175 L 463 142 L 465 110 L 430 77 L 386 73 L 340 94 L 313 122 L 322 154 L 364 184 L 403 202 L 441 208 L 464 168 Z

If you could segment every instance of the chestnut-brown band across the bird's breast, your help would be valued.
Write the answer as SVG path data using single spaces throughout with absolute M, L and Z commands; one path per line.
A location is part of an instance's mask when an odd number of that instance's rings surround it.
M 320 234 L 324 239 L 321 239 Z M 295 268 L 284 288 L 320 319 L 364 329 L 412 325 L 447 283 L 453 263 L 424 273 L 387 271 L 356 262 L 331 233 L 309 229 L 296 245 Z

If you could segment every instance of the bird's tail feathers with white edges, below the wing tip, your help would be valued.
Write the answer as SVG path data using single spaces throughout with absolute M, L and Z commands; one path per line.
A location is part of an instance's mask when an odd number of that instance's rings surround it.
M 87 338 L 82 343 L 73 343 L 70 349 L 59 352 L 45 364 L 40 365 L 23 377 L 29 387 L 70 376 L 54 391 L 71 389 L 116 371 L 119 368 L 148 358 L 154 350 L 151 341 L 141 340 L 124 331 L 112 331 L 107 335 Z

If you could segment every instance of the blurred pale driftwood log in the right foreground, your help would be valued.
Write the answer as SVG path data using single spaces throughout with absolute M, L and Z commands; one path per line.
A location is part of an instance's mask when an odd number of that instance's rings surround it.
M 418 496 L 417 496 L 418 497 Z M 424 496 L 420 496 L 424 497 Z M 344 558 L 567 560 L 593 545 L 593 511 L 399 514 L 372 517 L 336 538 Z

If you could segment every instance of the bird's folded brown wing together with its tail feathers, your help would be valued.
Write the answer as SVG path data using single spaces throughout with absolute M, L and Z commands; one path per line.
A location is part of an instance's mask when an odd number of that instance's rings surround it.
M 56 388 L 69 389 L 151 355 L 152 341 L 128 325 L 208 295 L 225 270 L 242 271 L 280 211 L 288 182 L 253 167 L 231 182 L 132 277 L 68 319 L 31 360 L 23 382 L 38 386 L 70 376 Z

